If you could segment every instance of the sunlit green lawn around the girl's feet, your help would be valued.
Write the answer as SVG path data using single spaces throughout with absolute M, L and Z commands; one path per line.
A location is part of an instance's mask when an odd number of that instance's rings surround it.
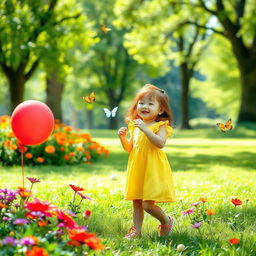
M 128 154 L 122 150 L 116 131 L 90 133 L 110 149 L 107 158 L 92 165 L 25 167 L 25 174 L 42 179 L 33 189 L 37 197 L 64 209 L 73 195 L 69 183 L 86 188 L 85 194 L 93 198 L 83 205 L 93 212 L 87 222 L 89 230 L 110 247 L 100 254 L 181 255 L 176 247 L 182 243 L 187 247 L 182 255 L 256 255 L 255 126 L 238 127 L 226 134 L 216 129 L 175 131 L 164 150 L 179 200 L 159 205 L 175 216 L 176 226 L 171 236 L 158 238 L 159 223 L 145 214 L 143 237 L 134 241 L 123 239 L 132 225 L 131 202 L 123 199 Z M 111 180 L 112 174 L 118 179 Z M 21 185 L 21 167 L 0 167 L 0 175 L 0 188 Z M 200 197 L 209 199 L 205 207 L 216 210 L 213 223 L 200 228 L 202 236 L 190 227 L 189 218 L 181 215 Z M 231 204 L 235 197 L 244 202 L 236 209 Z M 233 237 L 241 239 L 236 246 L 228 243 Z

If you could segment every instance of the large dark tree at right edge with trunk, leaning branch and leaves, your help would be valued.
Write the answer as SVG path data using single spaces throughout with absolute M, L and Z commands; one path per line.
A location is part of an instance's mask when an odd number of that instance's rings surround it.
M 190 24 L 225 37 L 232 45 L 241 80 L 238 123 L 256 122 L 256 4 L 254 0 L 171 1 L 190 5 L 214 17 L 218 24 L 205 26 L 191 17 Z M 219 25 L 219 26 L 218 26 Z

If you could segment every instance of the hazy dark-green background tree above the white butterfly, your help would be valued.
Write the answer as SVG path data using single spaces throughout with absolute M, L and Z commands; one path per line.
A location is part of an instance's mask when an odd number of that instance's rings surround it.
M 84 3 L 86 15 L 94 22 L 94 29 L 98 31 L 98 43 L 91 47 L 84 59 L 84 63 L 77 70 L 83 70 L 83 75 L 90 81 L 87 93 L 94 91 L 96 102 L 93 105 L 101 105 L 112 110 L 119 106 L 132 89 L 136 87 L 141 71 L 141 65 L 133 60 L 124 47 L 124 35 L 126 30 L 118 29 L 113 24 L 116 19 L 113 13 L 115 1 L 107 2 L 86 1 Z M 101 26 L 111 29 L 104 31 Z M 103 110 L 102 110 L 103 112 Z M 118 115 L 118 112 L 117 112 Z M 117 117 L 109 118 L 109 129 L 116 129 Z

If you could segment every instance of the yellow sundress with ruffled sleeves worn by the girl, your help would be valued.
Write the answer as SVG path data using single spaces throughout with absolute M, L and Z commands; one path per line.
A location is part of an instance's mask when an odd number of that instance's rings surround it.
M 168 123 L 160 121 L 148 128 L 157 133 L 164 125 L 167 136 L 171 136 L 172 128 Z M 171 166 L 165 152 L 153 145 L 132 121 L 128 129 L 133 149 L 128 159 L 125 199 L 154 200 L 156 203 L 175 201 Z

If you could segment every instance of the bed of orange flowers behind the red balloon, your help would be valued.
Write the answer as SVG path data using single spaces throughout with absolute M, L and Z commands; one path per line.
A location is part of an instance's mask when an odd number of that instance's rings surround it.
M 21 162 L 19 143 L 14 136 L 9 116 L 0 117 L 0 163 L 19 165 Z M 72 127 L 55 122 L 54 131 L 49 139 L 37 146 L 24 147 L 25 165 L 62 165 L 95 161 L 108 150 L 92 140 L 87 133 L 74 131 Z

